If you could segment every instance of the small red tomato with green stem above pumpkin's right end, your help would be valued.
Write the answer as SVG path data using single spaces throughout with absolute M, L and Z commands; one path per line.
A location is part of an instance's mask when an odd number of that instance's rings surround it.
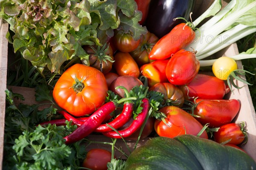
M 218 143 L 228 141 L 226 144 L 241 144 L 247 139 L 245 123 L 230 123 L 222 125 L 217 132 L 214 133 L 214 139 Z M 246 142 L 247 140 L 245 140 Z

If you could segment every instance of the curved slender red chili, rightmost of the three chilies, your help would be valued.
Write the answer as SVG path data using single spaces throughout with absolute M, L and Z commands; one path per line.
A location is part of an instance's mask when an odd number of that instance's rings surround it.
M 120 130 L 118 133 L 123 137 L 126 138 L 136 132 L 143 124 L 149 109 L 149 102 L 147 98 L 142 99 L 141 106 L 143 107 L 141 113 L 137 116 L 137 118 L 132 122 L 132 124 L 125 130 Z M 115 131 L 104 132 L 103 135 L 110 137 L 110 138 L 121 138 L 121 136 L 116 133 Z

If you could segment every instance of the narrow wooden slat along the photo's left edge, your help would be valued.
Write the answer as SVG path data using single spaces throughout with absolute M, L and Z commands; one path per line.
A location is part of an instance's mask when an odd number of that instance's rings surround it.
M 5 101 L 6 101 L 6 77 L 7 77 L 7 56 L 8 41 L 6 33 L 8 23 L 0 19 L 0 170 L 3 162 L 3 138 L 4 138 L 4 119 L 5 119 Z

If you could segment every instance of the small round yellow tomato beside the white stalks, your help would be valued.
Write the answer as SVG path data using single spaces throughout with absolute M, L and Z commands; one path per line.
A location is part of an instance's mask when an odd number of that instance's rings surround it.
M 213 74 L 221 80 L 227 80 L 230 73 L 236 69 L 236 61 L 229 57 L 220 57 L 212 65 Z

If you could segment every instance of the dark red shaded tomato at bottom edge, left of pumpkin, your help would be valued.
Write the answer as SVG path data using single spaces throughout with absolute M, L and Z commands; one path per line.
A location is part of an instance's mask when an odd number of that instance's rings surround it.
M 111 161 L 111 152 L 104 149 L 91 149 L 83 161 L 83 167 L 91 170 L 107 170 Z

